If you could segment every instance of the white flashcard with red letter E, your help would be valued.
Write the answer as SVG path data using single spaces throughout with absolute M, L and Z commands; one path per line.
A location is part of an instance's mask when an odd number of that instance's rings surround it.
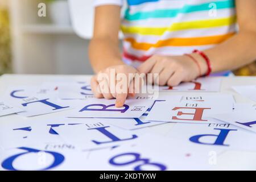
M 212 114 L 233 111 L 232 97 L 222 98 L 221 101 L 208 102 L 158 102 L 147 116 L 148 121 L 209 123 L 208 117 Z

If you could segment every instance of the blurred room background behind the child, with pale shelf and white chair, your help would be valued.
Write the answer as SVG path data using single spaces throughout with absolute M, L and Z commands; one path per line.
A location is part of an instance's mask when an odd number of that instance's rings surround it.
M 0 75 L 92 74 L 92 2 L 76 6 L 67 0 L 0 0 Z M 74 12 L 83 14 L 77 22 Z M 256 75 L 256 63 L 235 73 Z

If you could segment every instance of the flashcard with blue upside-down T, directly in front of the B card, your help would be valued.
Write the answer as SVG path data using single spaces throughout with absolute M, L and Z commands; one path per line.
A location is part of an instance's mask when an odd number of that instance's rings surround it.
M 94 118 L 86 118 L 88 121 L 84 125 L 59 126 L 54 129 L 65 142 L 73 143 L 81 150 L 93 150 L 117 146 L 121 143 L 130 143 L 137 139 L 139 135 L 147 130 L 127 131 L 118 127 L 98 122 Z

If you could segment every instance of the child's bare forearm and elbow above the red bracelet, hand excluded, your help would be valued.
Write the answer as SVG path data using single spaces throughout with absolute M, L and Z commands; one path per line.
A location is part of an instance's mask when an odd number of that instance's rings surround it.
M 256 1 L 236 1 L 239 32 L 226 42 L 205 51 L 214 72 L 237 69 L 256 60 Z

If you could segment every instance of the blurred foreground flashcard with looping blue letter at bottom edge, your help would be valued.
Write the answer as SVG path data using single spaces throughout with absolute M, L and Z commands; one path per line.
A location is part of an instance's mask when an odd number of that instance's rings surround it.
M 174 171 L 206 170 L 211 167 L 208 160 L 207 152 L 191 151 L 179 140 L 147 134 L 135 146 L 90 152 L 88 163 L 92 170 Z

